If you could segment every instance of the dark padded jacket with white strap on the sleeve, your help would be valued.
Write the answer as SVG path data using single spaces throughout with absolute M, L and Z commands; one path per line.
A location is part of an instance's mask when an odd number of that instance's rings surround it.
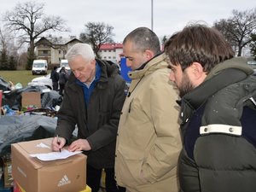
M 256 79 L 241 58 L 219 63 L 183 96 L 183 150 L 178 172 L 184 192 L 256 189 Z

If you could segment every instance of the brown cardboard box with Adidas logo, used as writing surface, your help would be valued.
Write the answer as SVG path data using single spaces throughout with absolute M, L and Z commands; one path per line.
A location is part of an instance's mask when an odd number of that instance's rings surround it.
M 86 186 L 86 156 L 76 154 L 65 160 L 41 161 L 29 154 L 52 152 L 52 138 L 11 145 L 12 175 L 26 192 L 80 191 Z M 49 148 L 37 147 L 42 143 Z M 40 144 L 40 145 L 39 145 Z

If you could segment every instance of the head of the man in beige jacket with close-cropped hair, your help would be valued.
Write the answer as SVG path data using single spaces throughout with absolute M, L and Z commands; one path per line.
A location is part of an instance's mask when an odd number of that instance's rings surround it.
M 160 53 L 160 42 L 150 29 L 139 27 L 125 37 L 123 49 L 126 65 L 134 71 Z

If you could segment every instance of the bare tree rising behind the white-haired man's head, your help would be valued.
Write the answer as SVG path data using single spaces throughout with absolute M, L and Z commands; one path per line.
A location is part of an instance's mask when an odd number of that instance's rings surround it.
M 97 57 L 102 44 L 113 43 L 113 26 L 104 22 L 88 22 L 85 26 L 85 32 L 80 34 L 80 39 L 87 44 L 91 44 Z

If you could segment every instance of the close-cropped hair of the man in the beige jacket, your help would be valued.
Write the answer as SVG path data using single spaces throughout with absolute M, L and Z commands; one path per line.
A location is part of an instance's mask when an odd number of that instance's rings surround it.
M 160 41 L 157 35 L 147 27 L 138 27 L 130 32 L 124 39 L 123 44 L 131 41 L 135 49 L 145 51 L 152 50 L 154 55 L 160 53 Z

